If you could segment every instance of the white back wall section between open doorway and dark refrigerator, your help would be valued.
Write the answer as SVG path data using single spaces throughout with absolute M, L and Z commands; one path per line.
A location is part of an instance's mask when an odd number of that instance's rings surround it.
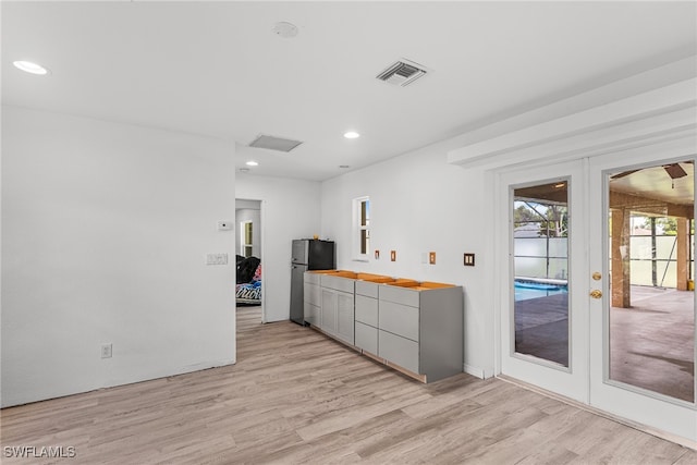
M 261 200 L 266 322 L 290 318 L 291 244 L 294 238 L 320 234 L 319 193 L 320 184 L 314 181 L 236 175 L 235 197 Z

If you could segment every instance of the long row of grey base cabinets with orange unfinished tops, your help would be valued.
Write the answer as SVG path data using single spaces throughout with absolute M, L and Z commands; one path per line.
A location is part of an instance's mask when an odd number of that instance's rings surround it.
M 325 334 L 424 382 L 463 371 L 462 286 L 351 271 L 306 279 L 305 315 Z

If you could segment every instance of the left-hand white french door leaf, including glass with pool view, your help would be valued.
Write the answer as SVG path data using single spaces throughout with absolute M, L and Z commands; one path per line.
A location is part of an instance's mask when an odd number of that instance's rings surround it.
M 501 371 L 588 399 L 585 173 L 572 161 L 502 174 Z

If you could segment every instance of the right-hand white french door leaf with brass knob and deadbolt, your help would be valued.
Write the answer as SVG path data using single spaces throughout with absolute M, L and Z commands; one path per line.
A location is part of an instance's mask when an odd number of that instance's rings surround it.
M 588 160 L 590 404 L 694 445 L 695 156 L 659 154 Z

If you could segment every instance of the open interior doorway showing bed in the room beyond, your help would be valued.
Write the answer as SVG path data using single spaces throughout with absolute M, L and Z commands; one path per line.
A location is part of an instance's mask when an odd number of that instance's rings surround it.
M 235 303 L 245 320 L 264 322 L 264 247 L 261 200 L 235 199 Z

